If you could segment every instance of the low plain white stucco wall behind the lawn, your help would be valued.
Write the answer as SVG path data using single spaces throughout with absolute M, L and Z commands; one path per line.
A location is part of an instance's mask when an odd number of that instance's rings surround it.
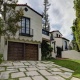
M 75 50 L 63 51 L 62 52 L 62 58 L 80 60 L 80 52 L 77 52 Z

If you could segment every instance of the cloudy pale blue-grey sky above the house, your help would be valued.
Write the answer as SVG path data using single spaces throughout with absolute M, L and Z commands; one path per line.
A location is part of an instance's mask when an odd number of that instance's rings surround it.
M 34 10 L 43 13 L 44 0 L 18 0 L 19 4 L 27 3 Z M 74 0 L 48 0 L 51 4 L 48 14 L 51 31 L 59 30 L 63 37 L 72 40 L 72 30 L 71 26 L 73 25 L 73 20 L 75 17 L 74 10 Z

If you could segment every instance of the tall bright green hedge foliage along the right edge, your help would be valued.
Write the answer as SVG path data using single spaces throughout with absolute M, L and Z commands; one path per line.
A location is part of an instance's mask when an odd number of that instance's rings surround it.
M 76 19 L 73 22 L 72 31 L 73 31 L 73 42 L 77 44 L 78 49 L 80 50 L 80 0 L 74 0 L 74 9 L 76 10 Z

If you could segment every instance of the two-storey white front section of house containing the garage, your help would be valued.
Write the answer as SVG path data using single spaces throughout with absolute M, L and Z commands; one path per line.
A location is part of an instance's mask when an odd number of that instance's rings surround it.
M 17 4 L 24 15 L 21 29 L 15 36 L 1 37 L 1 52 L 4 60 L 41 60 L 42 15 L 27 4 Z

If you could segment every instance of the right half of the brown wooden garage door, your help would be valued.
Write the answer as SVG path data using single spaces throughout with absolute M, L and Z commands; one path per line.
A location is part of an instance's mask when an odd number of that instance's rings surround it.
M 38 60 L 38 45 L 25 44 L 25 60 Z

